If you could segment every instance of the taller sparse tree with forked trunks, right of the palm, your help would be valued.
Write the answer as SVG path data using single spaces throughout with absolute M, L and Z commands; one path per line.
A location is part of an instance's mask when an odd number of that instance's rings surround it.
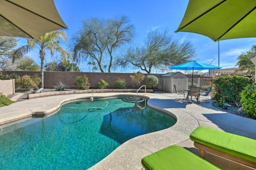
M 127 17 L 116 17 L 104 20 L 90 18 L 83 21 L 83 28 L 74 38 L 73 51 L 74 59 L 92 58 L 97 62 L 101 72 L 103 59 L 109 62 L 109 72 L 113 63 L 113 52 L 126 42 L 130 42 L 133 37 L 133 25 Z

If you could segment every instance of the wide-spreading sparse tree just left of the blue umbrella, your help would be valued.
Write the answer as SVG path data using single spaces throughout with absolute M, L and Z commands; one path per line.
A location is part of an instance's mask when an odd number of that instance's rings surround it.
M 180 43 L 168 35 L 167 31 L 158 30 L 148 33 L 142 47 L 130 47 L 126 54 L 117 59 L 119 66 L 132 65 L 135 68 L 151 73 L 152 69 L 164 70 L 191 59 L 195 49 L 190 42 Z

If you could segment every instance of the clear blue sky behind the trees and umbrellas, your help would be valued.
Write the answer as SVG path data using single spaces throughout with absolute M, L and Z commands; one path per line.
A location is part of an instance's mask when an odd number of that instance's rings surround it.
M 218 65 L 218 43 L 210 38 L 195 33 L 184 33 L 174 31 L 178 28 L 185 13 L 188 0 L 54 0 L 55 6 L 68 26 L 63 30 L 67 33 L 69 39 L 75 36 L 82 27 L 82 20 L 90 17 L 103 19 L 113 18 L 115 16 L 125 15 L 130 18 L 135 27 L 135 37 L 132 45 L 142 45 L 148 32 L 159 29 L 167 30 L 174 39 L 190 41 L 196 48 L 196 61 Z M 25 45 L 26 39 L 20 38 L 19 45 Z M 68 44 L 61 43 L 68 49 Z M 220 41 L 220 66 L 223 68 L 234 67 L 237 63 L 237 57 L 244 51 L 256 44 L 256 38 L 239 38 Z M 28 54 L 37 64 L 40 64 L 38 51 L 33 50 Z M 47 55 L 47 62 L 51 62 L 50 55 Z M 79 64 L 82 71 L 88 71 L 88 65 L 83 62 Z M 134 72 L 139 69 L 121 69 L 113 72 Z M 99 70 L 98 70 L 99 71 Z M 158 72 L 158 71 L 156 71 Z

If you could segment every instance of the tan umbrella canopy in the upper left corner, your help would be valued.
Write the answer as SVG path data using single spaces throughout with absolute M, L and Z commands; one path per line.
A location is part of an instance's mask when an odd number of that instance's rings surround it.
M 0 1 L 0 36 L 38 38 L 66 28 L 53 0 Z

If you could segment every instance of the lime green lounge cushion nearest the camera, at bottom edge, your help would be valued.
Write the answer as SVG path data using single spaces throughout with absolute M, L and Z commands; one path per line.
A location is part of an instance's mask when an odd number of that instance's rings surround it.
M 219 169 L 178 145 L 172 145 L 148 155 L 141 160 L 141 163 L 146 170 Z

